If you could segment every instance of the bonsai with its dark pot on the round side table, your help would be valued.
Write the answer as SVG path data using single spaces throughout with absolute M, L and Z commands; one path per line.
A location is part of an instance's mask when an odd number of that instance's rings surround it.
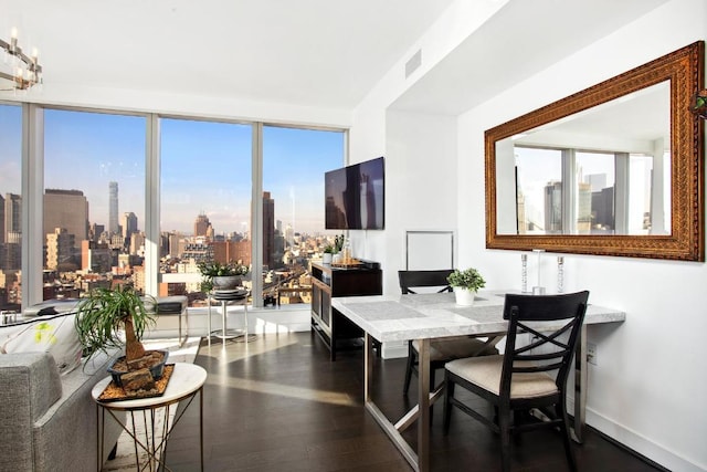
M 147 298 L 152 306 L 157 305 L 152 297 Z M 75 319 L 78 339 L 88 358 L 125 346 L 125 356 L 118 357 L 108 369 L 117 385 L 123 385 L 125 374 L 145 369 L 152 380 L 161 377 L 168 352 L 145 350 L 140 339 L 145 329 L 155 325 L 155 313 L 145 307 L 145 300 L 134 287 L 94 289 L 78 303 Z

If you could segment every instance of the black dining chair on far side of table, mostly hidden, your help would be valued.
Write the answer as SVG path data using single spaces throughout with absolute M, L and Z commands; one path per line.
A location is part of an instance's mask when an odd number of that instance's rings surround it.
M 436 290 L 436 293 L 452 292 L 446 277 L 454 272 L 452 269 L 435 271 L 398 271 L 400 290 L 403 295 L 418 294 L 421 289 Z M 416 340 L 408 342 L 408 366 L 405 368 L 405 382 L 403 394 L 408 395 L 412 374 L 418 375 Z M 484 340 L 469 336 L 453 336 L 430 342 L 430 387 L 434 388 L 434 371 L 444 368 L 444 364 L 469 356 L 486 356 L 498 354 L 498 349 Z

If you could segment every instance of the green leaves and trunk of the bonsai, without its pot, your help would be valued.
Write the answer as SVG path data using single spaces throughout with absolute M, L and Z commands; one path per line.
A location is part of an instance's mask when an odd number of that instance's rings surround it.
M 76 331 L 84 352 L 91 357 L 125 344 L 128 365 L 145 356 L 140 339 L 145 328 L 155 323 L 155 314 L 145 308 L 143 297 L 131 286 L 95 289 L 78 304 L 76 313 Z

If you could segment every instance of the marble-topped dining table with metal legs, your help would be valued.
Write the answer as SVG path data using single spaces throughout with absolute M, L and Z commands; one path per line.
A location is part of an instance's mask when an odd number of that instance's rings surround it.
M 430 470 L 431 405 L 443 394 L 443 386 L 430 385 L 430 343 L 452 336 L 473 336 L 497 343 L 508 329 L 503 317 L 506 293 L 513 291 L 479 291 L 473 305 L 457 305 L 453 293 L 408 295 L 370 295 L 335 297 L 331 306 L 363 331 L 363 401 L 368 412 L 388 434 L 415 471 Z M 625 321 L 625 313 L 591 303 L 587 307 L 574 355 L 573 439 L 582 442 L 587 405 L 587 326 Z M 559 322 L 558 322 L 559 323 Z M 548 325 L 548 329 L 555 326 Z M 559 327 L 559 325 L 557 326 Z M 405 415 L 390 420 L 376 405 L 371 395 L 374 367 L 374 344 L 388 342 L 419 343 L 418 401 Z M 377 343 L 374 343 L 374 340 Z M 416 422 L 416 450 L 402 432 Z

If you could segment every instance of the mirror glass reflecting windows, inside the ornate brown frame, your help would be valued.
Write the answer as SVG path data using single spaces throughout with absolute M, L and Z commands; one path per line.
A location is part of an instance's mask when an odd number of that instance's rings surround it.
M 669 234 L 669 81 L 496 143 L 499 234 Z

